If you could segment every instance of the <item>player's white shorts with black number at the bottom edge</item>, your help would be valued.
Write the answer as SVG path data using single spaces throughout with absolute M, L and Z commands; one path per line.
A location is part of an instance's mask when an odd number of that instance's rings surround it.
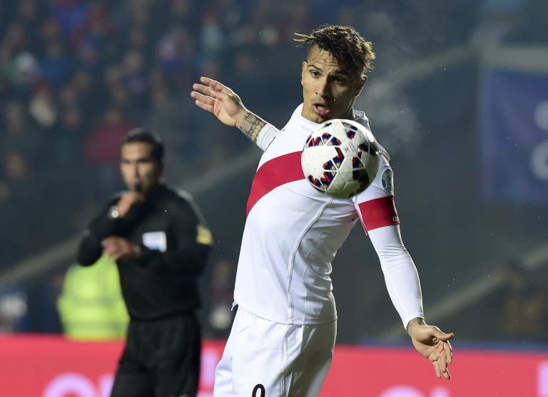
M 213 397 L 317 397 L 336 336 L 337 321 L 279 324 L 238 306 L 215 371 Z

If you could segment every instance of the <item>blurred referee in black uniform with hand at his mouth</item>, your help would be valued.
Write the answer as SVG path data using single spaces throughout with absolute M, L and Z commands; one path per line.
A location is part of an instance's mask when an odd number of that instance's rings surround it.
M 101 254 L 116 261 L 131 318 L 111 397 L 198 392 L 197 278 L 212 237 L 192 198 L 163 182 L 163 153 L 151 131 L 129 131 L 120 163 L 127 191 L 108 200 L 78 248 L 83 266 Z

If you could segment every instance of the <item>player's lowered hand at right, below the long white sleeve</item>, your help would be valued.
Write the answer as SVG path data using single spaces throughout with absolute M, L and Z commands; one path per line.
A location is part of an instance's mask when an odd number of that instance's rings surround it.
M 422 320 L 422 319 L 421 319 Z M 447 366 L 453 361 L 453 348 L 449 342 L 455 334 L 445 334 L 437 326 L 426 325 L 423 321 L 414 321 L 409 326 L 409 335 L 415 349 L 432 361 L 438 378 L 451 378 Z

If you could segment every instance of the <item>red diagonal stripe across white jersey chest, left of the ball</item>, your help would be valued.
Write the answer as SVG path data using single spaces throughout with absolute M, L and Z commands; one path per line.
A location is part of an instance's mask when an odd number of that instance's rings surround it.
M 288 153 L 268 160 L 260 166 L 251 184 L 245 216 L 249 214 L 253 205 L 271 190 L 285 185 L 285 183 L 304 179 L 303 167 L 300 165 L 300 154 L 301 152 Z

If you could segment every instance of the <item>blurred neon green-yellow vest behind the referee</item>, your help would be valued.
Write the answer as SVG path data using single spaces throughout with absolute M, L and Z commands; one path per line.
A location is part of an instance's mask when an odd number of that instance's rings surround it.
M 71 265 L 65 274 L 57 309 L 67 338 L 124 338 L 129 316 L 116 263 L 103 256 L 88 267 Z

